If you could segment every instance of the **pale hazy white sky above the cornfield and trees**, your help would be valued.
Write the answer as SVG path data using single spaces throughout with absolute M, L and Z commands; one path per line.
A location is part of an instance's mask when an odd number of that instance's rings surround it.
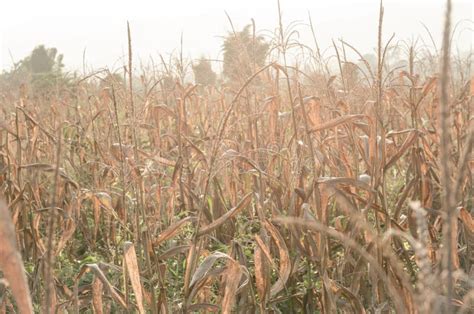
M 455 21 L 471 31 L 456 40 L 462 49 L 471 49 L 474 24 L 470 0 L 454 0 Z M 363 52 L 376 43 L 378 0 L 281 0 L 284 23 L 308 21 L 311 13 L 322 48 L 331 39 L 344 38 Z M 385 0 L 384 36 L 398 39 L 427 39 L 423 22 L 437 44 L 443 24 L 444 0 Z M 9 68 L 38 44 L 56 47 L 64 54 L 69 69 L 111 68 L 123 64 L 127 51 L 126 21 L 132 29 L 135 56 L 147 62 L 179 48 L 184 36 L 185 56 L 219 58 L 222 37 L 230 30 L 225 15 L 240 29 L 256 21 L 259 30 L 278 25 L 276 0 L 2 0 L 0 11 L 0 67 Z M 312 44 L 308 27 L 300 26 L 302 42 Z

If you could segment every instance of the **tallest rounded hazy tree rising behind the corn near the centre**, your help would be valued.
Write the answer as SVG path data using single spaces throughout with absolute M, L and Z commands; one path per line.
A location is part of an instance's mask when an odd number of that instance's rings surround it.
M 263 37 L 250 33 L 250 25 L 241 32 L 229 33 L 224 39 L 224 76 L 233 81 L 246 79 L 267 57 L 269 44 Z

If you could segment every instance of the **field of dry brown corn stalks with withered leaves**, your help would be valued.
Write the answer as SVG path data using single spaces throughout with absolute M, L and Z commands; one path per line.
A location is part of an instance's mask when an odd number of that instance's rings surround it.
M 2 90 L 0 312 L 472 313 L 466 67 L 445 41 L 390 68 L 379 35 L 358 68 L 293 26 L 218 86 L 130 45 L 126 80 Z

